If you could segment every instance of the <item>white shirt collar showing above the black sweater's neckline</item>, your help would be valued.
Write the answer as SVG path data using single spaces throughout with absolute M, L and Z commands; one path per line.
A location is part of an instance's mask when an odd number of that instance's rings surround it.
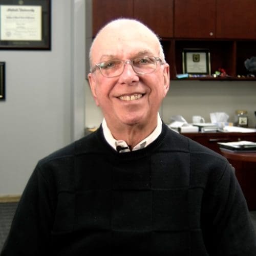
M 105 137 L 106 141 L 114 148 L 114 150 L 117 151 L 116 148 L 119 145 L 121 147 L 125 147 L 124 150 L 119 151 L 120 153 L 130 151 L 129 146 L 127 145 L 127 143 L 124 140 L 116 140 L 113 137 L 108 125 L 106 125 L 105 118 L 103 118 L 103 121 L 102 121 L 102 129 L 103 129 L 103 134 L 104 134 L 104 137 Z M 161 132 L 162 132 L 162 120 L 161 120 L 160 115 L 158 113 L 158 115 L 157 115 L 157 126 L 156 126 L 155 130 L 150 135 L 148 135 L 145 139 L 140 141 L 132 149 L 132 151 L 140 150 L 141 148 L 144 148 L 144 147 L 148 146 L 150 143 L 152 143 L 160 135 Z

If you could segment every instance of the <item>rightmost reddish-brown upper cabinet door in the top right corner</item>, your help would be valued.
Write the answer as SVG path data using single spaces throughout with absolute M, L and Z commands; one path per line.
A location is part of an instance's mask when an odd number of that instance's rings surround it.
M 218 38 L 256 38 L 255 0 L 217 0 Z

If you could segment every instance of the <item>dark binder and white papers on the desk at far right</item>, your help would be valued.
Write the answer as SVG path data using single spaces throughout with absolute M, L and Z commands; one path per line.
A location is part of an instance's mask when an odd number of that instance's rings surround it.
M 232 152 L 256 152 L 256 142 L 241 140 L 233 142 L 218 142 L 221 150 L 228 150 Z

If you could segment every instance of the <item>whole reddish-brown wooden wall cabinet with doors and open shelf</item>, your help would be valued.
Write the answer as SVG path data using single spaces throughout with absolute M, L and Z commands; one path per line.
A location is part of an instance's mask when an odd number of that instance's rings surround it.
M 208 49 L 210 74 L 199 80 L 256 80 L 244 66 L 256 56 L 255 0 L 92 0 L 93 36 L 119 17 L 141 20 L 162 40 L 170 78 L 183 73 L 182 52 Z M 224 69 L 226 77 L 214 77 Z

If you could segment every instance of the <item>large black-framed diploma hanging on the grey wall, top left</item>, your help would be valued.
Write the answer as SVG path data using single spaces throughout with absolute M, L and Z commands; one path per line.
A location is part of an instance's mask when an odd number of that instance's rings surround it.
M 51 49 L 51 0 L 0 0 L 0 49 Z

